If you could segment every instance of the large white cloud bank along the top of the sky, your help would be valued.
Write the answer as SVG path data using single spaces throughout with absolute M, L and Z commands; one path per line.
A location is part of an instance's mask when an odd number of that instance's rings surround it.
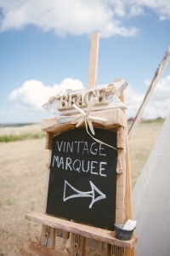
M 160 20 L 170 19 L 169 0 L 1 0 L 0 31 L 34 25 L 57 36 L 98 31 L 101 37 L 134 36 L 138 29 L 122 25 L 122 18 L 151 9 Z

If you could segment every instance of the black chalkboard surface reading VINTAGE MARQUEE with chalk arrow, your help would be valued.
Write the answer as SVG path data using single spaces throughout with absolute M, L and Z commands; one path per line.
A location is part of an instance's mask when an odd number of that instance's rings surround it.
M 95 128 L 95 137 L 116 148 L 116 132 Z M 114 230 L 117 151 L 94 141 L 85 128 L 53 139 L 47 213 Z

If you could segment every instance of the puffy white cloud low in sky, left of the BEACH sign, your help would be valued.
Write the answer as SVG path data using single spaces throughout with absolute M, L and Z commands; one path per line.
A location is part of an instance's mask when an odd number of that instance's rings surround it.
M 42 110 L 42 105 L 48 102 L 48 98 L 57 95 L 59 91 L 82 88 L 83 84 L 78 79 L 64 79 L 62 83 L 54 84 L 54 86 L 45 86 L 40 81 L 30 80 L 26 81 L 20 88 L 13 90 L 8 99 L 16 102 L 14 108 L 20 108 L 24 111 L 37 111 Z

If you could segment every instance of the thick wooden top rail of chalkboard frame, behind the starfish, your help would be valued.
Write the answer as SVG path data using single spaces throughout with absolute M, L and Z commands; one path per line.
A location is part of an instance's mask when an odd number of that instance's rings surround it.
M 93 122 L 94 127 L 100 127 L 104 129 L 113 129 L 118 126 L 124 126 L 125 124 L 125 114 L 122 112 L 122 109 L 116 108 L 116 109 L 110 109 L 110 110 L 103 110 L 98 112 L 93 112 L 91 114 L 92 116 L 96 116 L 99 118 L 105 118 L 107 119 L 107 122 L 99 122 L 95 121 Z M 80 114 L 75 115 L 77 118 L 81 117 Z M 53 133 L 60 133 L 63 131 L 67 131 L 69 129 L 76 128 L 76 125 L 72 125 L 71 123 L 65 123 L 65 124 L 59 124 L 57 122 L 58 118 L 52 118 L 52 119 L 43 119 L 42 120 L 42 131 L 46 132 L 53 132 Z M 80 127 L 83 127 L 85 124 L 82 124 Z

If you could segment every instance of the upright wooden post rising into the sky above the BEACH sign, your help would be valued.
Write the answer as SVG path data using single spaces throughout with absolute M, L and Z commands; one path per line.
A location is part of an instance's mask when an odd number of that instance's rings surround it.
M 97 82 L 98 55 L 99 55 L 99 32 L 94 32 L 91 36 L 91 42 L 90 42 L 88 88 L 94 87 Z

